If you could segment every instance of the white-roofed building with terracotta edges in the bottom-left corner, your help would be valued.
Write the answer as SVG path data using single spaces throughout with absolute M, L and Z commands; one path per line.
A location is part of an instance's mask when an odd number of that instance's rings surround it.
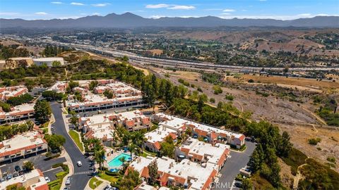
M 5 190 L 6 186 L 11 184 L 18 184 L 18 186 L 24 187 L 24 189 L 28 190 L 48 190 L 48 184 L 44 179 L 44 175 L 39 169 L 35 169 L 26 173 L 24 175 L 20 175 L 18 177 L 13 177 L 5 182 L 0 183 L 0 190 Z

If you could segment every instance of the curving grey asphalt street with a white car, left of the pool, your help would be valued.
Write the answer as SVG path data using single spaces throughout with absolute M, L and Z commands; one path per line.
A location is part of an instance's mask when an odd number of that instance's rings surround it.
M 66 138 L 66 143 L 64 144 L 64 148 L 69 153 L 71 157 L 73 166 L 74 166 L 74 173 L 71 179 L 71 185 L 69 188 L 73 189 L 85 189 L 86 184 L 90 180 L 91 177 L 91 161 L 86 157 L 83 156 L 83 153 L 79 151 L 76 144 L 74 144 L 69 134 L 66 132 L 66 128 L 64 125 L 64 120 L 62 118 L 62 110 L 60 108 L 60 104 L 57 102 L 51 102 L 52 113 L 55 118 L 55 129 L 54 134 L 61 134 Z M 83 166 L 78 167 L 76 162 L 81 161 Z

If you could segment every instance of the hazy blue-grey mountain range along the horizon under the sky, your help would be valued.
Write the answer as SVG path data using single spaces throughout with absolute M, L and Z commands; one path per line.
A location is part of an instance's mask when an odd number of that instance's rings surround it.
M 296 20 L 274 19 L 222 19 L 215 16 L 199 18 L 143 18 L 133 13 L 117 15 L 111 13 L 105 16 L 86 16 L 77 19 L 23 20 L 0 19 L 0 28 L 7 27 L 37 27 L 37 28 L 67 28 L 67 27 L 339 27 L 339 16 L 316 16 L 314 18 L 299 18 Z

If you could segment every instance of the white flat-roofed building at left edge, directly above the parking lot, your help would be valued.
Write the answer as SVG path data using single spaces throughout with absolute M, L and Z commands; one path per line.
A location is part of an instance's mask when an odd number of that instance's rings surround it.
M 37 155 L 47 151 L 47 148 L 47 142 L 39 132 L 17 134 L 0 142 L 0 163 Z

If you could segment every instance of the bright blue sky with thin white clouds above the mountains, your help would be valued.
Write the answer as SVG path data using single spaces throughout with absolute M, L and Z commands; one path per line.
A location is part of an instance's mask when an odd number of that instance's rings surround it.
M 339 15 L 339 0 L 0 0 L 0 18 L 80 18 L 131 12 L 145 18 L 275 18 Z

